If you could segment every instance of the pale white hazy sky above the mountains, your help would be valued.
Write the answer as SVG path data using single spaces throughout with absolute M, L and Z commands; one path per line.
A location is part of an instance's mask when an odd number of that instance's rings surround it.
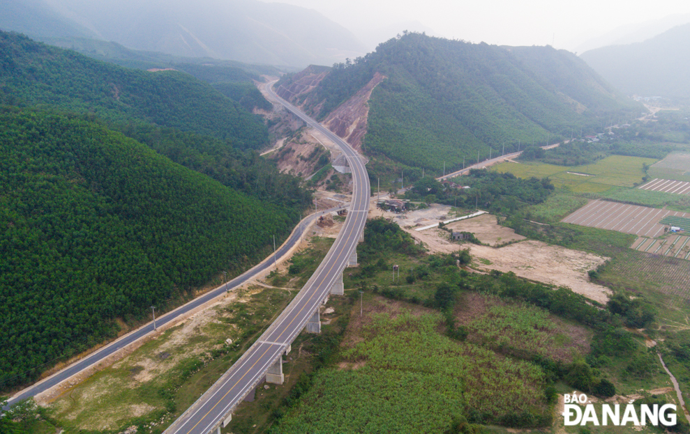
M 271 0 L 264 0 L 271 1 Z M 690 13 L 688 0 L 278 0 L 318 10 L 362 39 L 396 22 L 435 36 L 573 51 L 624 24 Z M 431 32 L 429 32 L 431 33 Z M 393 35 L 391 35 L 393 36 Z M 366 40 L 363 42 L 367 42 Z M 380 41 L 382 42 L 382 41 Z

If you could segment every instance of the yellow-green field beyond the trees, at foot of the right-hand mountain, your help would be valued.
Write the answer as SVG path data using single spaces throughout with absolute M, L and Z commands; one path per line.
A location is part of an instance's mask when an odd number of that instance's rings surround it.
M 645 176 L 643 164 L 653 164 L 653 158 L 611 155 L 584 166 L 557 166 L 537 162 L 504 162 L 490 170 L 510 172 L 519 178 L 548 177 L 557 188 L 573 193 L 603 193 L 612 187 L 634 187 Z

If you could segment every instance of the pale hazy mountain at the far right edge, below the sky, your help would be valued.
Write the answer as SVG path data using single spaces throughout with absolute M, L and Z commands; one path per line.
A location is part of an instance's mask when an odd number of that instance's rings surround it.
M 592 49 L 580 57 L 629 95 L 690 98 L 690 24 L 644 42 Z

